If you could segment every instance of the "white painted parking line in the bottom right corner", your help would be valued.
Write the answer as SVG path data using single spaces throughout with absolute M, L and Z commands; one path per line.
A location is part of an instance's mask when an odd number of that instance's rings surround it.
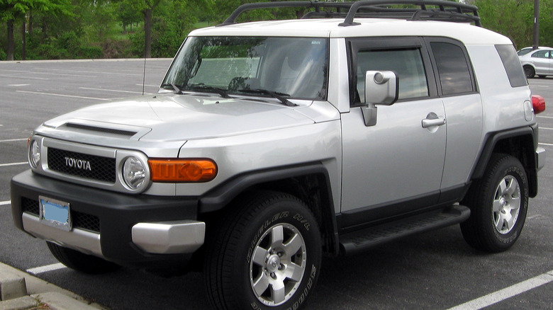
M 532 279 L 517 283 L 505 289 L 501 289 L 497 292 L 487 294 L 484 297 L 471 300 L 470 302 L 460 304 L 459 306 L 454 306 L 453 308 L 450 308 L 448 310 L 469 310 L 486 308 L 486 306 L 497 304 L 498 302 L 502 302 L 503 300 L 509 299 L 510 297 L 514 297 L 518 294 L 530 291 L 530 289 L 535 289 L 536 287 L 546 285 L 549 282 L 553 282 L 553 270 L 545 272 L 542 275 L 538 275 L 537 277 L 532 277 Z

